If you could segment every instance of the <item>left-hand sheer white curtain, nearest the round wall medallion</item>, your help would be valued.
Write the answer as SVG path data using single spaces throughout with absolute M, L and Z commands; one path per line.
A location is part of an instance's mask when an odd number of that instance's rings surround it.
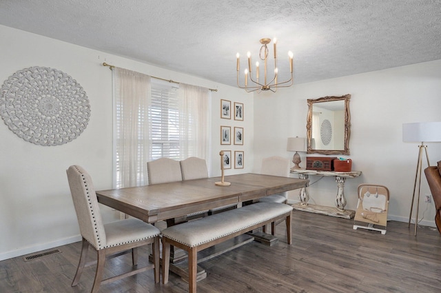
M 114 79 L 114 185 L 116 188 L 147 184 L 149 160 L 148 109 L 150 77 L 139 72 L 113 69 Z

